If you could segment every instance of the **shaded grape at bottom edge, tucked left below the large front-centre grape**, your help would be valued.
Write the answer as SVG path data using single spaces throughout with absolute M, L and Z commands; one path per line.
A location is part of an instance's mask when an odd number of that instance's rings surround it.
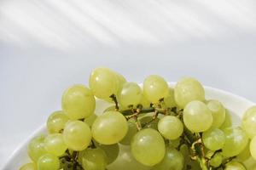
M 129 145 L 120 145 L 118 158 L 108 165 L 108 170 L 149 170 L 151 167 L 144 166 L 131 155 Z

